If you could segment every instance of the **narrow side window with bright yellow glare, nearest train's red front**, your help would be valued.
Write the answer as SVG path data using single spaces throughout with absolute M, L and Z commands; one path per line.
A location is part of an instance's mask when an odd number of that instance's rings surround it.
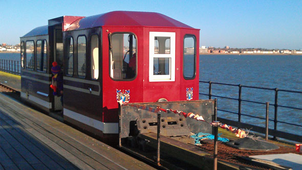
M 91 36 L 91 78 L 99 77 L 99 39 L 97 35 Z

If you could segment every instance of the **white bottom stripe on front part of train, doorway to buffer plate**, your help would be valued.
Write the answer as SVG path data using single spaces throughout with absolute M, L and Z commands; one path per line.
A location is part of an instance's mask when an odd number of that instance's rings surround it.
M 63 114 L 64 116 L 68 116 L 72 119 L 75 119 L 80 123 L 98 129 L 103 133 L 118 134 L 118 123 L 103 123 L 99 120 L 90 118 L 88 116 L 84 116 L 82 114 L 68 110 L 66 108 L 63 109 Z

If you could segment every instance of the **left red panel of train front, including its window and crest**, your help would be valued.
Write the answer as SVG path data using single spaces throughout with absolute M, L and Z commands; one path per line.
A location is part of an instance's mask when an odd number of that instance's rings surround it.
M 103 122 L 118 122 L 118 101 L 143 102 L 143 28 L 103 27 Z

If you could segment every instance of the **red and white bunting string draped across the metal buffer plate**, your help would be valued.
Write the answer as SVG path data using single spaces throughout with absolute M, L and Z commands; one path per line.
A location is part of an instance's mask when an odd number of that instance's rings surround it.
M 123 105 L 127 105 L 127 104 L 123 104 Z M 132 106 L 132 107 L 135 107 L 135 108 L 138 108 L 138 109 L 142 109 L 142 110 L 147 110 L 147 111 L 153 112 L 153 113 L 159 113 L 159 112 L 165 112 L 165 113 L 167 113 L 168 111 L 171 111 L 171 112 L 174 112 L 175 114 L 183 115 L 185 118 L 187 118 L 187 117 L 193 118 L 193 119 L 196 119 L 198 121 L 202 121 L 202 122 L 208 123 L 211 126 L 214 126 L 214 127 L 218 126 L 218 127 L 222 128 L 222 129 L 226 129 L 227 131 L 232 132 L 233 134 L 235 134 L 239 138 L 244 138 L 244 137 L 247 136 L 247 134 L 246 134 L 246 132 L 244 130 L 236 129 L 236 128 L 233 128 L 233 127 L 228 126 L 226 124 L 222 124 L 220 122 L 207 122 L 201 115 L 194 114 L 192 112 L 185 113 L 183 111 L 178 111 L 178 110 L 163 109 L 163 108 L 160 108 L 159 106 L 157 108 L 152 108 L 152 107 L 147 107 L 147 106 L 141 106 L 141 105 L 133 105 L 133 104 L 129 105 L 129 106 Z

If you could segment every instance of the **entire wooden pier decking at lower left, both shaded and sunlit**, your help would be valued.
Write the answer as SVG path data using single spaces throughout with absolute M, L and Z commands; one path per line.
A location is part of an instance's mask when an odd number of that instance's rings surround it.
M 0 169 L 153 169 L 0 93 Z

